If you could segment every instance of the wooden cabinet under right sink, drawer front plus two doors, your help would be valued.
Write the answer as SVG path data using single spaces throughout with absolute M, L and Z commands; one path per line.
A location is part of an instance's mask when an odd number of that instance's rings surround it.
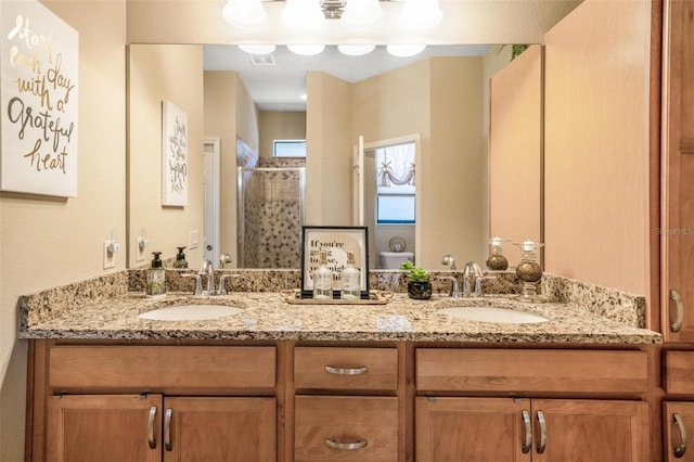
M 645 351 L 417 348 L 415 371 L 417 462 L 651 460 Z

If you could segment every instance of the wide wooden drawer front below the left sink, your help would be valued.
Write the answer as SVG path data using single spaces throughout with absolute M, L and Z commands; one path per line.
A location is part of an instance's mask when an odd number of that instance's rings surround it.
M 275 348 L 54 346 L 49 385 L 66 388 L 252 388 L 275 383 Z

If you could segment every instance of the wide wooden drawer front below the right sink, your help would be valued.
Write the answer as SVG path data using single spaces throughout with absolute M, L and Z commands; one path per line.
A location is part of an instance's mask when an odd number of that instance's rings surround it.
M 645 351 L 552 349 L 416 350 L 417 392 L 642 394 Z

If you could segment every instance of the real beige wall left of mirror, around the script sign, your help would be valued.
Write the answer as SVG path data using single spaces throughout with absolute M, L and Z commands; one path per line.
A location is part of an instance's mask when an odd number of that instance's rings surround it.
M 17 297 L 126 267 L 126 7 L 46 1 L 79 31 L 78 196 L 0 193 L 0 460 L 24 454 L 26 341 Z M 103 269 L 115 229 L 116 268 Z

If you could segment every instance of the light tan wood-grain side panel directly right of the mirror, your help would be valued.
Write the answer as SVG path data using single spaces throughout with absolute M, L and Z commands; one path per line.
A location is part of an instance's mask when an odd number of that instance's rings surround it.
M 587 0 L 548 33 L 544 118 L 547 270 L 646 296 L 650 16 Z

